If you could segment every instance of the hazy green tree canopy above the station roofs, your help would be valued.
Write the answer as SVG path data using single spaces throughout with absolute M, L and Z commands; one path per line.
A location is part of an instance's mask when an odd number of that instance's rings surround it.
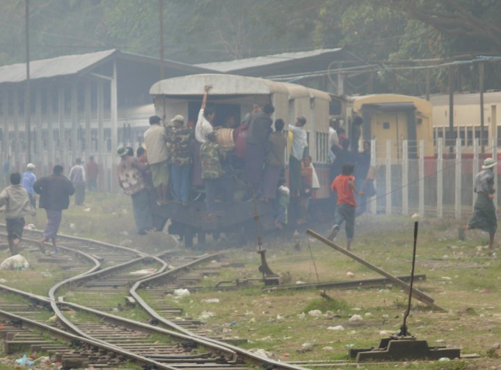
M 0 5 L 0 64 L 22 62 L 25 1 Z M 498 0 L 37 0 L 30 1 L 30 49 L 32 59 L 111 48 L 159 56 L 162 17 L 165 57 L 175 61 L 344 47 L 380 65 L 376 84 L 405 86 L 424 79 L 389 74 L 389 64 L 498 54 L 500 16 Z M 470 81 L 472 73 L 465 67 L 458 76 Z M 445 74 L 432 79 L 440 88 Z

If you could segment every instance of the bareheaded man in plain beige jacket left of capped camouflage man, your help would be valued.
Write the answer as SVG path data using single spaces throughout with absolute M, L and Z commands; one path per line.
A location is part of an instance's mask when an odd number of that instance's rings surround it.
M 158 115 L 150 117 L 150 127 L 144 134 L 144 143 L 148 150 L 153 186 L 157 191 L 157 204 L 162 205 L 167 202 L 169 168 L 167 134 L 160 122 Z

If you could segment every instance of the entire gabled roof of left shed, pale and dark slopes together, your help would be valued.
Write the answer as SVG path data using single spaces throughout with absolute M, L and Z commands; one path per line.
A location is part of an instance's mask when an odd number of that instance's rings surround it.
M 102 63 L 106 58 L 116 54 L 118 58 L 137 63 L 159 63 L 159 58 L 142 56 L 138 54 L 122 53 L 116 49 L 96 51 L 94 53 L 56 56 L 55 58 L 42 59 L 30 62 L 30 79 L 47 79 L 51 77 L 70 76 L 78 74 Z M 190 73 L 213 72 L 203 67 L 196 67 L 176 61 L 164 61 L 166 68 L 175 68 Z M 26 81 L 26 63 L 3 65 L 0 67 L 0 83 L 19 83 Z

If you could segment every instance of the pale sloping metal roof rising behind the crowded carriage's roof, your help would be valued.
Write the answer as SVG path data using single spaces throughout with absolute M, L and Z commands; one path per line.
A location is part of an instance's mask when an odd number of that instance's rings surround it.
M 235 59 L 234 61 L 213 62 L 196 64 L 198 67 L 208 68 L 219 72 L 231 72 L 236 70 L 244 70 L 251 67 L 260 67 L 262 65 L 272 65 L 285 61 L 293 61 L 303 58 L 311 58 L 312 56 L 320 56 L 323 54 L 335 53 L 342 48 L 336 49 L 315 49 L 310 51 L 299 51 L 295 53 L 273 54 L 268 56 L 256 56 L 255 58 Z

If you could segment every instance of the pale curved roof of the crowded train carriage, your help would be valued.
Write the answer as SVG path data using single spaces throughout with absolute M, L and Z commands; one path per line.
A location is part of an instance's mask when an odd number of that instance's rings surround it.
M 237 76 L 234 74 L 192 74 L 189 76 L 164 79 L 154 83 L 151 95 L 189 97 L 202 95 L 204 86 L 211 85 L 210 95 L 271 95 L 287 94 L 289 99 L 299 97 L 330 100 L 328 93 L 307 88 L 294 83 L 261 79 L 258 77 Z

